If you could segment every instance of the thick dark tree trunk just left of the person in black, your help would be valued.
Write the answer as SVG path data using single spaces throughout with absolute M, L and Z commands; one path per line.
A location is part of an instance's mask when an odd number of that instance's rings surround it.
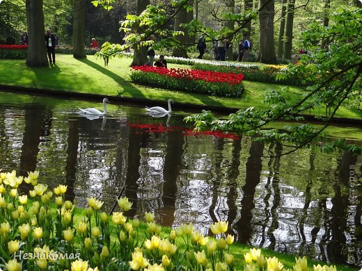
M 45 67 L 48 64 L 45 48 L 44 13 L 42 0 L 26 0 L 26 22 L 29 32 L 26 66 Z

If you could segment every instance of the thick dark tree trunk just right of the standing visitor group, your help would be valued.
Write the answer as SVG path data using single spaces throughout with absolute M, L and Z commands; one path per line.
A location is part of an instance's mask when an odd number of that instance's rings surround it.
M 260 38 L 257 61 L 266 64 L 276 63 L 274 50 L 274 0 L 260 0 Z

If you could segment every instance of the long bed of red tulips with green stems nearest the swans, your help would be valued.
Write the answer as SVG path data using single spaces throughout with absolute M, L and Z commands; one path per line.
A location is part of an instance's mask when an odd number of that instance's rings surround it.
M 243 74 L 143 65 L 132 67 L 129 76 L 134 83 L 168 90 L 220 97 L 241 97 L 244 92 Z

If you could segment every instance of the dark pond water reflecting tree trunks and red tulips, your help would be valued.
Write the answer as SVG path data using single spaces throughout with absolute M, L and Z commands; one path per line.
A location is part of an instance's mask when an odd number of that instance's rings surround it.
M 361 265 L 361 156 L 301 149 L 269 158 L 285 147 L 193 133 L 187 113 L 167 120 L 121 104 L 89 120 L 77 109 L 88 106 L 102 108 L 0 92 L 0 168 L 39 170 L 49 187 L 66 184 L 77 206 L 97 197 L 111 211 L 124 187 L 130 217 L 153 211 L 160 224 L 192 222 L 203 233 L 228 220 L 239 242 Z

